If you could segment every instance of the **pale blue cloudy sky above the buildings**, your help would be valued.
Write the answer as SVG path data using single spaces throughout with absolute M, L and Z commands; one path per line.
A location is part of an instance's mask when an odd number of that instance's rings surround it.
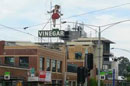
M 0 25 L 0 40 L 40 41 L 37 38 L 38 30 L 49 29 L 49 24 L 45 28 L 43 27 L 50 19 L 47 11 L 55 4 L 61 5 L 63 13 L 61 21 L 102 26 L 130 19 L 129 0 L 0 0 L 0 24 L 15 29 Z M 86 14 L 75 16 L 84 13 Z M 66 26 L 63 25 L 62 29 L 65 29 Z M 30 28 L 25 30 L 24 27 Z M 92 28 L 98 30 L 98 28 Z M 105 28 L 107 27 L 101 27 L 101 30 Z M 95 31 L 87 27 L 84 27 L 84 30 L 88 37 L 97 36 Z M 110 27 L 101 32 L 101 36 L 115 42 L 111 47 L 130 50 L 130 21 Z M 125 56 L 130 59 L 130 52 L 120 49 L 113 49 L 111 52 L 115 57 Z

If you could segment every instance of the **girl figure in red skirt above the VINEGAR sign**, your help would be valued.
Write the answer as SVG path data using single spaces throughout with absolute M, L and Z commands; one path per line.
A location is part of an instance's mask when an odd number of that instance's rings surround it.
M 59 19 L 60 16 L 63 15 L 63 14 L 60 13 L 59 9 L 60 9 L 60 6 L 55 5 L 55 8 L 52 11 L 48 12 L 48 13 L 52 13 L 51 18 L 52 18 L 52 21 L 53 21 L 53 27 L 56 26 L 56 19 Z

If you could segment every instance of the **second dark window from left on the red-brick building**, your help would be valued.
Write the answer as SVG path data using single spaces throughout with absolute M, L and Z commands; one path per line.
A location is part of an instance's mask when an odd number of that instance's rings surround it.
M 28 68 L 29 67 L 29 57 L 19 57 L 19 66 Z

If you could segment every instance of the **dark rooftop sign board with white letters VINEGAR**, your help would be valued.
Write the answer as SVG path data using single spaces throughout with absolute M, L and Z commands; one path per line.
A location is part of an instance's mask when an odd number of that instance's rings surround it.
M 59 29 L 38 31 L 38 37 L 62 37 L 64 35 L 65 35 L 64 30 Z

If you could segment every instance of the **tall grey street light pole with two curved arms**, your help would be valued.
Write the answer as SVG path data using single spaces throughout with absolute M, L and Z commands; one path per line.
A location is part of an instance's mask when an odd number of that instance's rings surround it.
M 123 22 L 127 22 L 130 21 L 130 19 L 128 20 L 123 20 L 123 21 L 119 21 L 119 22 L 115 22 L 115 23 L 110 23 L 110 24 L 106 24 L 106 25 L 102 25 L 102 26 L 96 26 L 96 25 L 90 25 L 90 24 L 84 24 L 84 26 L 98 32 L 98 86 L 100 86 L 100 58 L 101 58 L 101 33 L 107 29 L 109 29 L 112 26 L 115 26 L 117 24 L 123 23 Z M 74 23 L 74 22 L 62 22 L 62 23 Z M 96 27 L 98 28 L 98 31 L 92 27 Z M 106 27 L 105 29 L 101 30 L 101 27 Z

